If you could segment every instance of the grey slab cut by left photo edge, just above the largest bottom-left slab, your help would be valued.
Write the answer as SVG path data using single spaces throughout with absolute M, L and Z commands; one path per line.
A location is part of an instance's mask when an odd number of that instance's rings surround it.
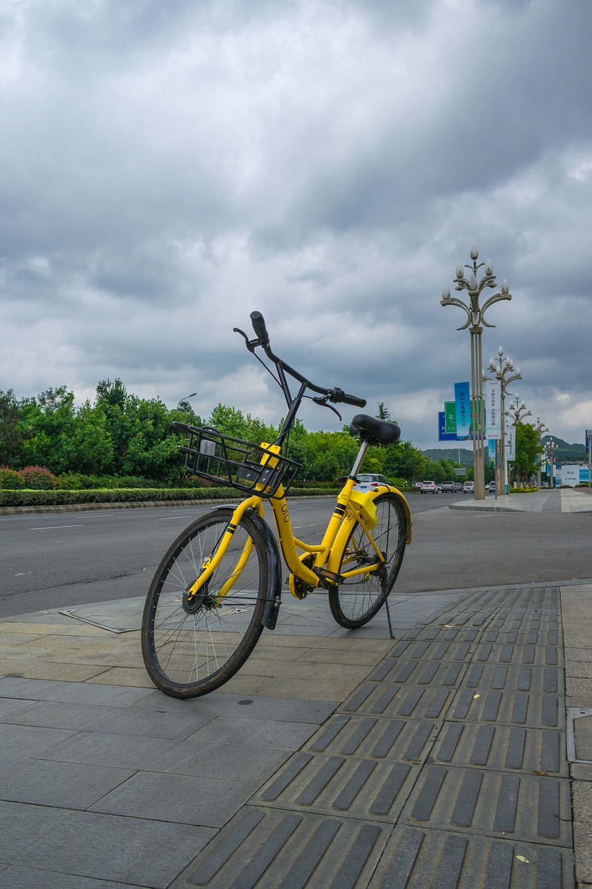
M 0 761 L 0 787 L 4 800 L 66 809 L 88 808 L 132 774 L 130 770 L 111 766 L 33 758 Z

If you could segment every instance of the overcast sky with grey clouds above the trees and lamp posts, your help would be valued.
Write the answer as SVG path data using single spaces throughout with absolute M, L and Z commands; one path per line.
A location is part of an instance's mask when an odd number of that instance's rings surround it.
M 0 389 L 120 377 L 276 422 L 232 332 L 258 309 L 290 364 L 433 447 L 470 374 L 442 290 L 476 244 L 512 294 L 484 362 L 502 346 L 583 442 L 591 38 L 590 0 L 0 0 Z

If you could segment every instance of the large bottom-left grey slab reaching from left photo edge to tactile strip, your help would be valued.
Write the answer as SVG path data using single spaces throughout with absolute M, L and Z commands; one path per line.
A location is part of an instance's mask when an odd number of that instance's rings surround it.
M 0 802 L 0 861 L 81 879 L 166 889 L 216 832 L 168 819 L 151 821 L 138 809 L 133 814 L 120 818 Z

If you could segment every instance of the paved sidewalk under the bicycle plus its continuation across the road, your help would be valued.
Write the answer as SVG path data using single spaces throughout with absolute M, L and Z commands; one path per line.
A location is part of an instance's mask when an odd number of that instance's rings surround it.
M 592 510 L 529 511 L 557 500 Z M 194 701 L 149 682 L 141 599 L 4 621 L 0 887 L 592 885 L 591 601 L 393 595 L 393 641 L 384 612 L 350 634 L 284 595 Z

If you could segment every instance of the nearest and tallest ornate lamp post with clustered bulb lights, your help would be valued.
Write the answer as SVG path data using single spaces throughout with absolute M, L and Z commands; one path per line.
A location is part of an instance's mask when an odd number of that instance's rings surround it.
M 483 306 L 479 306 L 479 297 L 485 287 L 495 287 L 495 275 L 493 274 L 492 260 L 480 262 L 477 264 L 479 252 L 475 244 L 471 247 L 470 265 L 464 267 L 459 264 L 456 267 L 456 290 L 466 290 L 468 292 L 469 304 L 467 305 L 457 297 L 452 297 L 448 284 L 442 292 L 442 306 L 458 306 L 467 313 L 467 321 L 457 330 L 463 331 L 468 328 L 471 335 L 471 418 L 473 420 L 473 477 L 475 479 L 475 500 L 485 499 L 485 478 L 484 478 L 484 402 L 483 402 L 483 380 L 481 377 L 481 368 L 483 365 L 481 357 L 481 334 L 485 327 L 494 327 L 495 324 L 488 324 L 484 319 L 484 313 L 487 308 L 494 302 L 500 300 L 511 300 L 512 296 L 508 292 L 508 282 L 506 278 L 501 282 L 501 292 L 495 293 L 489 299 L 484 301 Z M 477 272 L 479 268 L 485 267 L 485 274 L 480 281 L 477 281 Z M 464 269 L 468 268 L 468 278 L 465 277 Z

